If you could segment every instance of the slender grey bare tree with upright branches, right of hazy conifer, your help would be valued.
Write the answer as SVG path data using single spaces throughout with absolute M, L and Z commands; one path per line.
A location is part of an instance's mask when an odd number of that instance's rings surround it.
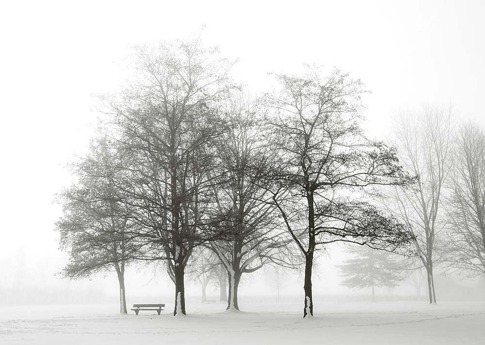
M 396 214 L 414 231 L 414 244 L 426 269 L 429 302 L 436 303 L 433 279 L 436 235 L 443 190 L 448 176 L 451 140 L 451 108 L 424 107 L 420 113 L 400 115 L 395 121 L 400 159 L 404 168 L 418 177 L 415 188 L 394 188 Z

